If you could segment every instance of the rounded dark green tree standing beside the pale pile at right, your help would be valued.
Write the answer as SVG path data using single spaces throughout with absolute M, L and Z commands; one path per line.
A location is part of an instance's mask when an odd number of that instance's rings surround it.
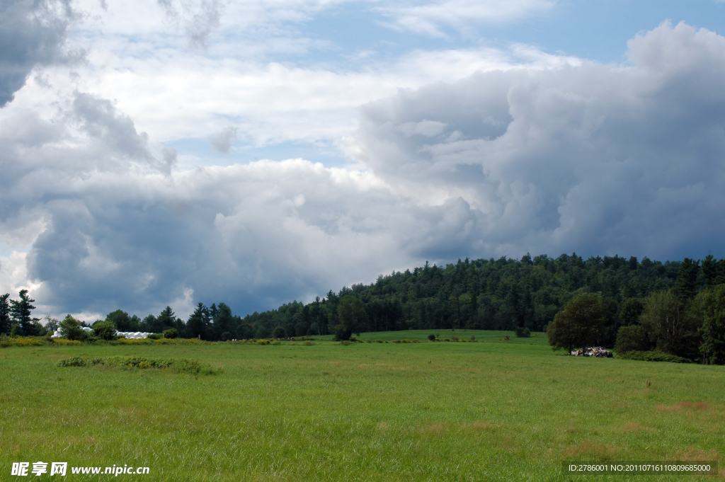
M 549 344 L 554 349 L 586 348 L 600 345 L 606 333 L 606 315 L 601 297 L 583 293 L 575 296 L 556 314 L 547 329 Z

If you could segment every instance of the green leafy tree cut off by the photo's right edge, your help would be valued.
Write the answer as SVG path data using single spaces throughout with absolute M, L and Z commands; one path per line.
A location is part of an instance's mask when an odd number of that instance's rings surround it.
M 725 365 L 725 284 L 698 295 L 698 309 L 703 317 L 700 352 L 705 362 Z

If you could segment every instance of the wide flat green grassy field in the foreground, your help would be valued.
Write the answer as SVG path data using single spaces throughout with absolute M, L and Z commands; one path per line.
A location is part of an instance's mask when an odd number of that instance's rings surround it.
M 480 341 L 0 349 L 0 480 L 42 460 L 150 468 L 126 481 L 675 481 L 565 477 L 561 462 L 725 453 L 725 367 L 565 357 L 541 333 L 436 333 Z M 57 367 L 78 354 L 223 371 Z

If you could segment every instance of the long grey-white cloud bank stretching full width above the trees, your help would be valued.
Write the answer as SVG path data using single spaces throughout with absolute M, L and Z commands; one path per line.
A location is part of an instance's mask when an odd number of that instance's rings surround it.
M 0 280 L 27 270 L 57 313 L 244 314 L 426 259 L 725 256 L 723 78 L 725 38 L 664 24 L 627 65 L 521 65 L 365 104 L 340 143 L 356 168 L 178 170 L 100 96 L 16 109 L 0 127 Z

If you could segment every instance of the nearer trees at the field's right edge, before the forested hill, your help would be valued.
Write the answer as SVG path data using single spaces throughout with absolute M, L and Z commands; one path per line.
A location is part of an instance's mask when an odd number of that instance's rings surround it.
M 721 260 L 722 261 L 722 260 Z M 607 309 L 598 293 L 581 293 L 558 312 L 547 336 L 555 349 L 607 341 Z M 679 360 L 725 365 L 725 280 L 721 262 L 685 258 L 671 288 L 621 304 L 614 349 L 652 352 Z

